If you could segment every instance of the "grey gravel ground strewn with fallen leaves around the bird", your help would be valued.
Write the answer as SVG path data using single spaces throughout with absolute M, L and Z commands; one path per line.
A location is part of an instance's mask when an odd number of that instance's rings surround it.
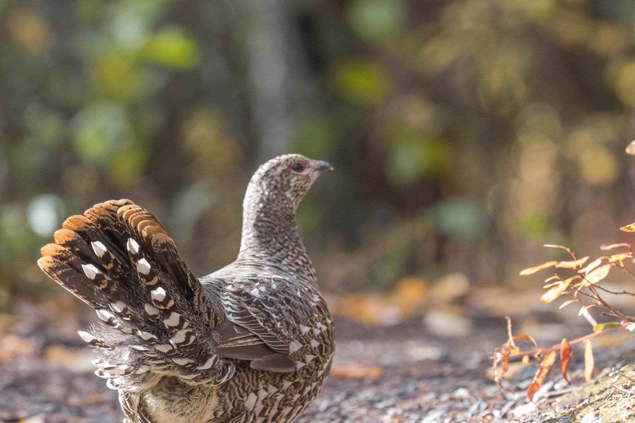
M 592 385 L 594 389 L 584 384 L 579 354 L 570 365 L 573 386 L 552 371 L 537 394 L 537 405 L 525 396 L 533 368 L 505 381 L 505 392 L 486 377 L 491 351 L 504 341 L 502 323 L 476 323 L 478 334 L 442 340 L 426 334 L 420 321 L 392 328 L 338 321 L 331 376 L 298 422 L 635 421 L 631 394 L 610 381 Z M 78 324 L 70 322 L 64 333 Z M 69 335 L 59 342 L 45 324 L 17 332 L 0 341 L 1 422 L 121 422 L 116 392 L 92 374 L 92 353 L 81 341 Z M 620 341 L 614 347 L 596 351 L 597 376 L 635 361 L 635 344 Z M 619 415 L 603 420 L 610 405 L 620 408 Z

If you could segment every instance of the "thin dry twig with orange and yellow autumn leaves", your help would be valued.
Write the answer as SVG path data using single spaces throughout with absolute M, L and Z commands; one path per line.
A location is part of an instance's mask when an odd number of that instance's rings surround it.
M 620 228 L 622 231 L 635 232 L 635 223 Z M 562 277 L 558 273 L 555 273 L 552 277 L 545 280 L 544 288 L 547 289 L 540 297 L 540 301 L 543 303 L 551 303 L 561 296 L 571 296 L 570 299 L 560 304 L 559 308 L 563 308 L 572 303 L 581 303 L 582 307 L 578 312 L 578 316 L 584 316 L 587 322 L 591 323 L 593 332 L 590 334 L 568 341 L 563 339 L 559 344 L 551 346 L 551 348 L 539 348 L 534 339 L 525 333 L 518 335 L 512 335 L 511 320 L 507 318 L 507 332 L 509 339 L 500 348 L 495 349 L 493 356 L 493 370 L 495 375 L 495 381 L 498 386 L 502 387 L 500 381 L 503 379 L 505 372 L 509 368 L 509 361 L 514 357 L 522 357 L 523 364 L 538 367 L 536 375 L 533 378 L 530 386 L 527 389 L 528 398 L 533 401 L 534 394 L 542 386 L 545 377 L 549 373 L 549 369 L 556 362 L 558 351 L 560 351 L 561 371 L 563 377 L 567 382 L 570 382 L 566 371 L 567 367 L 573 356 L 573 350 L 571 346 L 584 342 L 584 376 L 587 382 L 592 379 L 593 372 L 593 350 L 591 346 L 591 339 L 599 334 L 604 334 L 615 329 L 635 329 L 635 316 L 625 315 L 618 309 L 607 303 L 606 299 L 601 296 L 602 293 L 615 294 L 615 295 L 631 295 L 635 296 L 634 292 L 613 291 L 606 289 L 602 286 L 602 281 L 608 276 L 608 273 L 612 268 L 620 268 L 635 280 L 635 273 L 633 273 L 624 264 L 626 259 L 633 259 L 634 254 L 631 249 L 631 244 L 612 244 L 601 245 L 603 251 L 611 251 L 613 249 L 622 250 L 612 256 L 601 256 L 598 259 L 591 261 L 587 264 L 589 257 L 583 257 L 578 259 L 573 251 L 562 245 L 546 244 L 545 247 L 559 248 L 566 250 L 571 256 L 570 261 L 547 261 L 547 263 L 533 266 L 531 268 L 521 271 L 522 276 L 533 275 L 537 271 L 547 268 L 559 268 L 568 272 L 573 272 L 573 275 Z M 585 265 L 586 264 L 586 265 Z M 603 311 L 600 313 L 602 316 L 611 316 L 619 320 L 615 322 L 600 323 L 589 313 L 589 308 L 600 307 Z M 533 349 L 528 351 L 521 351 L 516 345 L 518 341 L 529 341 L 533 345 Z

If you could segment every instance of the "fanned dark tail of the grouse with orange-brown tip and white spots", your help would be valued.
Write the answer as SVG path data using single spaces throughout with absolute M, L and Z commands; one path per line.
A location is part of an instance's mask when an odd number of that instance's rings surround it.
M 152 214 L 110 200 L 66 219 L 53 239 L 37 264 L 97 311 L 103 323 L 79 335 L 96 348 L 95 373 L 110 387 L 145 389 L 166 374 L 211 385 L 232 376 L 209 335 L 225 314 Z

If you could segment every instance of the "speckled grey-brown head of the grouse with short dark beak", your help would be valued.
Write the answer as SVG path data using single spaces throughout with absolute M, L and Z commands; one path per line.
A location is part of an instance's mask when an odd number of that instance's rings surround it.
M 259 197 L 261 202 L 265 197 L 267 203 L 274 202 L 295 212 L 318 176 L 332 169 L 323 160 L 311 160 L 300 154 L 281 155 L 258 168 L 251 178 L 247 197 Z

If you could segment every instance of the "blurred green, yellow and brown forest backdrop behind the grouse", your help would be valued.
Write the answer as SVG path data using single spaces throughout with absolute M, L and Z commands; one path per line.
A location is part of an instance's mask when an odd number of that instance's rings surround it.
M 155 214 L 197 275 L 224 266 L 251 173 L 289 152 L 336 169 L 298 212 L 331 295 L 527 284 L 519 270 L 561 254 L 545 242 L 598 255 L 635 220 L 634 15 L 627 0 L 0 0 L 0 310 L 67 295 L 39 248 L 110 198 Z

